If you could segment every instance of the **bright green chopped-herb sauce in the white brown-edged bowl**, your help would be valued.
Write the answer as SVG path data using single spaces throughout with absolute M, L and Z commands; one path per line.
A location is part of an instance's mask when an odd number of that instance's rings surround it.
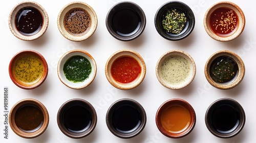
M 83 56 L 72 56 L 63 66 L 66 78 L 72 82 L 83 82 L 92 73 L 90 61 Z

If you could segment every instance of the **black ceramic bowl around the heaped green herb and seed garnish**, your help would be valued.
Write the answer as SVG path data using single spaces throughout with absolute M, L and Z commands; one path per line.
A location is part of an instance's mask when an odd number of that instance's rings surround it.
M 170 29 L 168 32 L 163 26 L 163 20 L 166 19 L 166 13 L 168 10 L 175 10 L 175 13 L 184 13 L 186 22 L 182 29 Z M 170 1 L 162 5 L 155 15 L 155 27 L 157 32 L 165 39 L 177 41 L 186 38 L 195 27 L 195 15 L 193 11 L 186 4 L 179 1 Z M 169 29 L 168 29 L 169 30 Z M 172 32 L 173 31 L 173 32 Z

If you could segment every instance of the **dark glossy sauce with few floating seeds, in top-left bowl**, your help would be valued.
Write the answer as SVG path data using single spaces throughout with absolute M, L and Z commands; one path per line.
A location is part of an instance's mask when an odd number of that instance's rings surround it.
M 34 7 L 24 7 L 15 16 L 15 26 L 19 33 L 31 36 L 42 27 L 42 14 Z

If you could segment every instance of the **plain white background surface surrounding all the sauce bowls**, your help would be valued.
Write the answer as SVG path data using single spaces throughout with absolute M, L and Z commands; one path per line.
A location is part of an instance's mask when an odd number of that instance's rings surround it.
M 9 30 L 8 16 L 11 9 L 21 1 L 1 1 L 0 28 L 1 28 L 1 55 L 0 55 L 0 111 L 4 110 L 4 87 L 9 87 L 9 110 L 18 101 L 26 98 L 39 100 L 46 106 L 50 116 L 47 130 L 39 137 L 25 139 L 16 135 L 9 127 L 9 139 L 4 139 L 4 116 L 0 115 L 1 142 L 254 142 L 256 135 L 255 118 L 255 7 L 253 1 L 232 0 L 244 11 L 246 17 L 245 29 L 239 38 L 230 42 L 219 42 L 210 38 L 203 27 L 203 17 L 206 10 L 218 1 L 182 0 L 191 9 L 196 17 L 194 31 L 181 41 L 168 41 L 156 31 L 154 17 L 156 11 L 168 1 L 135 1 L 145 12 L 146 27 L 140 37 L 133 41 L 119 41 L 112 37 L 105 26 L 105 17 L 110 8 L 119 0 L 86 0 L 93 7 L 98 16 L 98 27 L 89 39 L 82 42 L 69 41 L 63 37 L 57 28 L 57 15 L 62 7 L 72 1 L 36 1 L 46 9 L 49 15 L 47 32 L 34 41 L 17 39 Z M 49 65 L 49 74 L 46 81 L 36 89 L 25 90 L 14 85 L 8 74 L 11 58 L 19 51 L 31 49 L 41 53 Z M 57 62 L 66 52 L 81 49 L 89 52 L 97 63 L 97 75 L 93 83 L 81 90 L 66 87 L 57 76 Z M 135 89 L 119 90 L 106 80 L 104 68 L 106 60 L 114 52 L 121 49 L 130 49 L 138 52 L 146 62 L 146 76 L 144 81 Z M 155 67 L 159 57 L 169 50 L 182 50 L 194 58 L 197 73 L 194 81 L 180 90 L 170 90 L 163 87 L 157 80 Z M 230 50 L 237 53 L 246 67 L 242 83 L 229 90 L 220 90 L 212 87 L 204 75 L 204 66 L 207 59 L 217 51 Z M 95 130 L 87 137 L 72 139 L 64 135 L 57 126 L 57 112 L 59 107 L 73 98 L 89 101 L 97 111 L 98 122 Z M 145 109 L 147 123 L 144 130 L 131 139 L 121 139 L 114 136 L 106 126 L 106 111 L 112 103 L 122 98 L 131 98 L 138 101 Z M 157 129 L 155 115 L 159 106 L 168 99 L 181 98 L 189 102 L 195 109 L 197 123 L 194 130 L 180 139 L 172 139 L 162 135 Z M 238 101 L 246 113 L 246 123 L 240 134 L 229 139 L 222 139 L 212 135 L 206 128 L 204 116 L 209 105 L 220 98 L 232 98 Z

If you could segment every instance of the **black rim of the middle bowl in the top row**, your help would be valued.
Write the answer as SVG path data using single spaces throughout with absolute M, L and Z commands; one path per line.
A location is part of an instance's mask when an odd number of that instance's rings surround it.
M 112 28 L 112 15 L 115 13 L 115 11 L 117 9 L 120 8 L 126 8 L 129 7 L 131 9 L 133 9 L 134 11 L 136 11 L 138 13 L 138 15 L 141 18 L 141 26 L 138 29 L 138 31 L 131 35 L 131 36 L 121 36 L 119 34 L 117 34 L 116 32 L 114 32 L 113 28 Z M 117 4 L 115 4 L 112 8 L 110 8 L 108 14 L 106 14 L 106 19 L 105 19 L 105 24 L 106 24 L 106 29 L 109 31 L 109 33 L 116 39 L 121 40 L 121 41 L 131 41 L 134 40 L 136 38 L 138 38 L 144 31 L 145 27 L 146 27 L 146 15 L 144 13 L 144 11 L 142 10 L 142 8 L 137 5 L 134 2 L 130 2 L 130 1 L 123 1 L 123 2 L 119 2 Z

